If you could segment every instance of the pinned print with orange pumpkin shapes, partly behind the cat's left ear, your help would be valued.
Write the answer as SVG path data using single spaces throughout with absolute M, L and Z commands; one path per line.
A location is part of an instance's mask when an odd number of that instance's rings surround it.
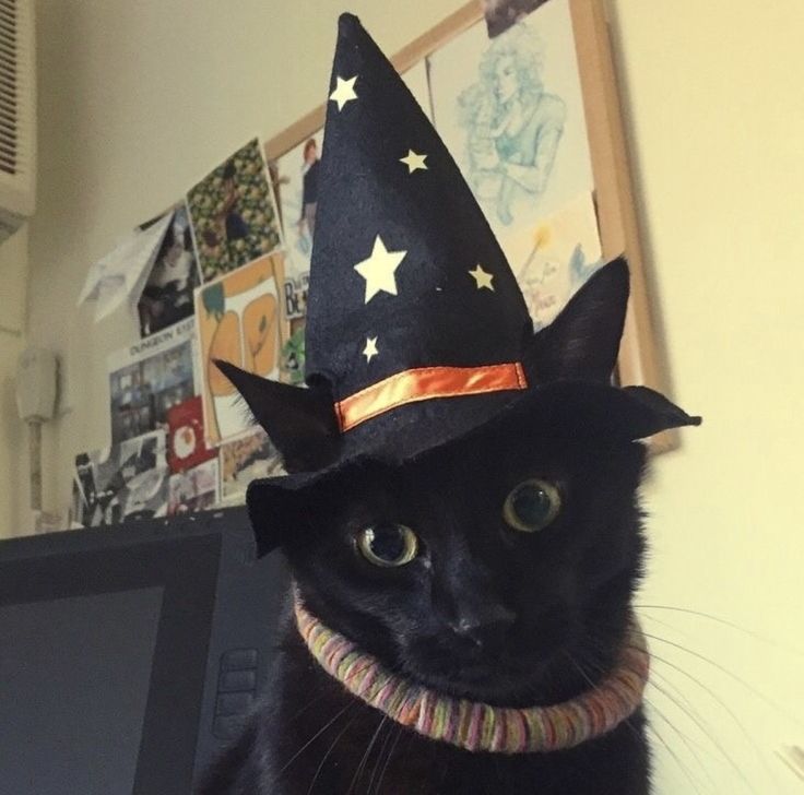
M 250 427 L 245 404 L 214 359 L 280 378 L 287 337 L 281 309 L 284 281 L 284 259 L 276 252 L 196 290 L 204 429 L 211 444 Z

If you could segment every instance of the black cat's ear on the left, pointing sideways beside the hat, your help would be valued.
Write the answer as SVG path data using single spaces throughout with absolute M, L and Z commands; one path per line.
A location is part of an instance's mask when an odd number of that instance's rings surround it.
M 287 472 L 321 470 L 338 456 L 338 419 L 332 397 L 322 389 L 271 381 L 215 359 L 255 419 L 276 446 Z

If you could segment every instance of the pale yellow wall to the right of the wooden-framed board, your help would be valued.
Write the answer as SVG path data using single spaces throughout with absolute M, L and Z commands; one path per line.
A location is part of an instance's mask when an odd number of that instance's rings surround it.
M 654 616 L 646 629 L 717 660 L 795 715 L 797 724 L 712 665 L 654 642 L 723 699 L 762 750 L 804 745 L 804 4 L 617 0 L 613 17 L 674 393 L 706 418 L 657 462 L 641 601 L 725 616 L 800 652 L 666 610 L 646 610 Z M 770 770 L 757 760 L 699 685 L 655 668 L 693 699 L 755 792 L 801 790 L 772 759 Z M 653 698 L 674 720 L 669 699 Z M 675 732 L 655 725 L 699 771 Z M 705 792 L 750 792 L 711 743 L 701 745 L 718 782 L 698 773 Z M 669 792 L 694 791 L 678 766 L 665 770 L 677 782 Z

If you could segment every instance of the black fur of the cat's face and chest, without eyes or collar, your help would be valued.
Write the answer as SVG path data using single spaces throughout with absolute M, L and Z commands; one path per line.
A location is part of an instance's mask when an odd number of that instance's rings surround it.
M 595 289 L 580 299 L 590 310 L 623 311 L 624 302 L 601 309 L 606 296 Z M 611 340 L 556 328 L 551 355 L 586 345 L 612 356 Z M 400 466 L 344 466 L 299 501 L 283 538 L 299 592 L 326 625 L 404 677 L 499 705 L 557 703 L 611 669 L 645 550 L 643 447 L 579 431 L 565 413 L 525 411 Z M 563 497 L 558 518 L 534 534 L 501 513 L 529 477 L 552 480 Z M 355 534 L 378 521 L 413 529 L 419 556 L 399 569 L 360 557 Z M 288 617 L 262 707 L 201 793 L 648 795 L 643 723 L 638 711 L 567 751 L 470 754 L 347 695 Z

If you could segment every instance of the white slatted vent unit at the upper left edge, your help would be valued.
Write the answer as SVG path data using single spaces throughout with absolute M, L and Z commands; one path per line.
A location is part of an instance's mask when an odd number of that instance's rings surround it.
M 0 241 L 34 212 L 34 0 L 0 0 Z

